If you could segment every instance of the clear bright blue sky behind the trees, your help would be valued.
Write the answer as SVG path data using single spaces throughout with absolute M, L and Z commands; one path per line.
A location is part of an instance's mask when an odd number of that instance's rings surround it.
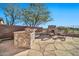
M 45 4 L 51 13 L 51 17 L 54 21 L 48 22 L 42 27 L 46 28 L 48 25 L 57 26 L 71 26 L 79 25 L 79 4 L 78 3 L 47 3 Z M 5 4 L 0 4 L 0 7 Z M 21 7 L 26 7 L 27 4 L 21 4 Z M 4 17 L 2 10 L 0 9 L 0 16 Z

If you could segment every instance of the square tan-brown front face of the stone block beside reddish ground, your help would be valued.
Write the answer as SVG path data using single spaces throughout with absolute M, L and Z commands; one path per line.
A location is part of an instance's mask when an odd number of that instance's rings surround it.
M 14 32 L 14 45 L 19 48 L 30 48 L 30 32 L 18 31 Z

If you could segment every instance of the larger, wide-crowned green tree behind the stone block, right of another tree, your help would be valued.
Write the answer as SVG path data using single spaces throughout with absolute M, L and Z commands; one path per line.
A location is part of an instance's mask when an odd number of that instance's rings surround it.
M 44 4 L 30 3 L 29 6 L 23 9 L 23 21 L 27 26 L 37 27 L 41 24 L 52 20 L 50 13 Z

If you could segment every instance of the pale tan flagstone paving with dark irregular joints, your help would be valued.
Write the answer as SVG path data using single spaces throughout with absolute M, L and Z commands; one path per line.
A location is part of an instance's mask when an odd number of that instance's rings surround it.
M 31 49 L 15 56 L 79 56 L 79 38 L 66 37 L 66 41 L 34 40 Z

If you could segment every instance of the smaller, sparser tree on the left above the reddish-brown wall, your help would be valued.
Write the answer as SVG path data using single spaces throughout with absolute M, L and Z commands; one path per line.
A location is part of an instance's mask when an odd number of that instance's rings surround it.
M 2 10 L 5 15 L 5 24 L 7 25 L 15 25 L 16 21 L 21 17 L 21 8 L 18 4 L 6 4 Z

